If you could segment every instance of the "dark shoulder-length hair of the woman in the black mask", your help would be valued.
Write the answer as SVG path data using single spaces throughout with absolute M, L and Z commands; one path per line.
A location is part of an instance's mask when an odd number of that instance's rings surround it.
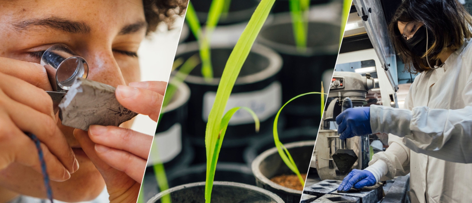
M 398 30 L 398 22 L 414 20 L 424 23 L 429 33 L 434 35 L 434 43 L 423 56 L 410 51 Z M 461 47 L 465 38 L 472 37 L 471 26 L 472 16 L 457 0 L 404 0 L 392 17 L 388 30 L 396 52 L 405 63 L 405 71 L 417 73 L 430 70 L 426 55 L 433 65 L 440 53 Z

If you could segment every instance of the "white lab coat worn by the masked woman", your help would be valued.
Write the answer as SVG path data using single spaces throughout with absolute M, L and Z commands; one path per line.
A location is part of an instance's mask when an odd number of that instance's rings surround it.
M 412 203 L 472 203 L 471 73 L 469 39 L 442 68 L 416 77 L 405 109 L 371 106 L 372 133 L 391 134 L 369 165 L 387 166 L 381 180 L 410 172 Z

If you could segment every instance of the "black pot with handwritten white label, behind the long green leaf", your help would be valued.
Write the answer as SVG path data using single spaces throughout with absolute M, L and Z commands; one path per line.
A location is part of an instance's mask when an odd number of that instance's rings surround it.
M 199 148 L 203 149 L 203 156 L 196 156 L 203 160 L 197 163 L 205 162 L 206 117 L 213 105 L 211 98 L 214 100 L 219 77 L 221 77 L 226 61 L 233 49 L 233 46 L 228 45 L 212 45 L 211 47 L 214 75 L 211 82 L 206 82 L 202 78 L 201 65 L 195 67 L 185 78 L 185 83 L 190 87 L 192 93 L 188 103 L 188 127 L 185 134 L 191 138 L 196 151 Z M 185 60 L 196 53 L 198 53 L 196 42 L 182 44 L 177 48 L 176 58 L 183 57 Z M 255 44 L 253 46 L 236 79 L 227 109 L 234 106 L 248 106 L 253 109 L 261 120 L 260 132 L 255 132 L 254 121 L 248 113 L 243 110 L 236 112 L 226 131 L 222 148 L 245 148 L 249 142 L 248 138 L 270 133 L 275 114 L 281 106 L 281 87 L 277 80 L 281 65 L 281 58 L 275 52 L 261 45 Z M 222 152 L 219 160 L 238 162 L 238 160 L 233 160 L 231 157 Z M 243 163 L 242 153 L 239 154 L 239 157 L 239 162 Z

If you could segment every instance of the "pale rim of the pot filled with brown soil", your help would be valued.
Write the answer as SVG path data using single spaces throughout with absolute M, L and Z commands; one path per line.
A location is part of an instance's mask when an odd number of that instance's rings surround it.
M 315 147 L 315 143 L 316 141 L 297 141 L 297 142 L 291 142 L 291 143 L 288 143 L 288 144 L 284 144 L 284 146 L 287 148 L 287 149 L 290 149 L 290 148 L 295 148 L 295 147 L 303 147 L 303 146 L 313 146 L 313 149 Z M 260 154 L 259 156 L 257 156 L 254 160 L 253 160 L 253 163 L 251 164 L 251 169 L 253 170 L 253 174 L 254 174 L 254 177 L 256 179 L 259 179 L 261 180 L 262 182 L 264 182 L 265 184 L 268 184 L 270 187 L 273 187 L 275 189 L 278 189 L 278 190 L 283 190 L 283 191 L 286 191 L 286 192 L 289 192 L 289 193 L 294 193 L 294 194 L 300 194 L 302 195 L 303 191 L 300 191 L 300 190 L 296 190 L 296 189 L 292 189 L 292 188 L 288 188 L 288 187 L 283 187 L 275 182 L 272 182 L 271 180 L 269 180 L 267 177 L 265 177 L 265 175 L 263 175 L 261 173 L 261 170 L 259 170 L 259 165 L 261 165 L 261 162 L 262 160 L 264 160 L 265 158 L 267 158 L 267 156 L 270 156 L 272 154 L 278 154 L 278 150 L 276 147 L 273 147 L 273 148 L 270 148 L 264 152 L 262 152 L 262 154 Z M 312 152 L 313 153 L 313 152 Z M 303 186 L 304 187 L 304 186 Z

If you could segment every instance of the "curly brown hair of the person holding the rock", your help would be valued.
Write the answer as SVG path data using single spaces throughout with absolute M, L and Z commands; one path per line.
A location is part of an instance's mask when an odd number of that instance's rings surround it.
M 169 29 L 175 15 L 182 15 L 187 8 L 188 0 L 143 0 L 144 16 L 148 23 L 146 35 L 156 31 L 159 23 L 164 22 Z

